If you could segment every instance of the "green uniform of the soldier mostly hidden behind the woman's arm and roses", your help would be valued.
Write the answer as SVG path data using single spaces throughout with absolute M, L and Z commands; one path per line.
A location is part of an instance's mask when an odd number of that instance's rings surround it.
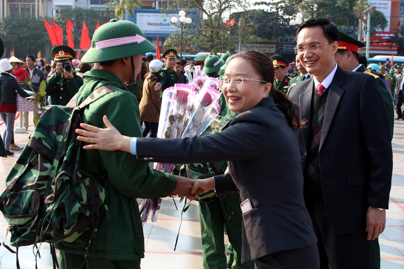
M 219 99 L 219 103 L 221 113 L 202 134 L 203 136 L 220 132 L 237 116 L 236 113 L 227 109 L 227 103 L 223 94 Z M 225 172 L 226 168 L 227 162 L 187 164 L 181 170 L 181 174 L 196 180 L 221 175 Z M 240 195 L 238 193 L 218 198 L 212 192 L 211 197 L 199 202 L 199 220 L 204 269 L 226 268 L 226 263 L 228 263 L 227 268 L 254 268 L 253 261 L 241 264 L 242 216 Z M 224 255 L 224 230 L 227 232 L 231 244 L 231 246 L 229 244 L 227 262 Z M 234 260 L 232 259 L 233 256 Z

